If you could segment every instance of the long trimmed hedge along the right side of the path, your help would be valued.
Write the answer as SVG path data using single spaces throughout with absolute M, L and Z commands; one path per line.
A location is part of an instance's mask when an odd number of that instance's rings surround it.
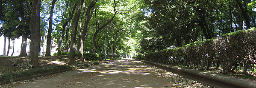
M 141 54 L 135 58 L 204 70 L 209 70 L 211 67 L 219 70 L 221 66 L 225 72 L 234 72 L 239 65 L 242 65 L 246 73 L 247 66 L 256 63 L 256 31 L 255 28 L 237 31 L 217 39 Z

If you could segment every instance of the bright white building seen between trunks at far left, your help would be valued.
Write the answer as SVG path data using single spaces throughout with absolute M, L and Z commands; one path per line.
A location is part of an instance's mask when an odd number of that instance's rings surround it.
M 3 45 L 4 45 L 4 37 L 1 36 L 0 37 L 0 41 L 2 41 L 0 43 L 0 55 L 3 55 Z M 6 55 L 7 55 L 7 49 L 8 49 L 8 37 L 6 37 Z M 9 54 L 8 56 L 12 55 L 12 51 L 14 50 L 13 56 L 18 56 L 21 53 L 21 43 L 22 43 L 22 37 L 19 37 L 18 39 L 15 39 L 14 41 L 14 46 L 13 46 L 13 40 L 10 40 L 10 50 L 9 50 Z M 26 40 L 26 53 L 29 55 L 29 44 L 30 44 L 30 40 L 27 39 Z M 52 44 L 51 44 L 51 55 L 53 55 L 54 53 L 57 53 L 58 51 L 56 50 L 58 48 L 57 45 L 55 45 L 55 42 L 52 40 Z M 43 47 L 40 47 L 40 52 L 39 55 L 40 56 L 44 56 L 46 53 L 46 39 L 44 37 L 44 43 L 43 43 Z

